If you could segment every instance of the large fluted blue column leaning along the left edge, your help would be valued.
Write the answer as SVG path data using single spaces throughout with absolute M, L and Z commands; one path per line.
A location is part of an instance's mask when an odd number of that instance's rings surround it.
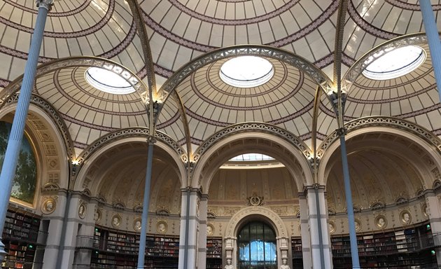
M 0 174 L 0 232 L 3 230 L 6 212 L 8 211 L 8 202 L 10 191 L 12 190 L 15 169 L 17 168 L 18 154 L 22 146 L 23 132 L 29 103 L 31 102 L 31 92 L 34 87 L 36 67 L 38 64 L 38 55 L 40 54 L 41 41 L 43 41 L 43 32 L 48 12 L 52 7 L 53 0 L 38 0 L 38 15 L 34 29 L 34 35 L 29 48 L 29 55 L 25 66 L 25 75 L 23 76 L 22 88 L 18 97 L 18 105 L 15 111 L 12 130 L 10 130 L 8 146 L 6 147 L 3 167 Z M 1 242 L 0 233 L 0 263 L 5 256 L 4 244 Z

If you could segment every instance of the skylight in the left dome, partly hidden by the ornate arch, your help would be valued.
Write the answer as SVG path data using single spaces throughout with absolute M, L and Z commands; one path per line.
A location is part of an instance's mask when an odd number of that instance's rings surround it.
M 130 76 L 130 74 L 128 75 Z M 126 78 L 104 68 L 90 67 L 85 71 L 85 79 L 94 88 L 113 95 L 127 95 L 135 92 Z

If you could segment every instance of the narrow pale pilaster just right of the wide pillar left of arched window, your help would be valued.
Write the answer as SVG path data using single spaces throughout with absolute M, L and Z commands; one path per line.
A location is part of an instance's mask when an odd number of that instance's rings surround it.
M 197 268 L 207 266 L 207 210 L 208 195 L 201 195 L 199 205 L 199 238 L 197 238 Z

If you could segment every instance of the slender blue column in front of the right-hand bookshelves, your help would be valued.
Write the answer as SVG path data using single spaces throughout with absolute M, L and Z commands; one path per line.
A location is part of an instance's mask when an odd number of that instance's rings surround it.
M 349 221 L 349 240 L 351 242 L 352 268 L 358 269 L 360 268 L 360 261 L 358 259 L 357 235 L 355 230 L 355 219 L 353 217 L 351 179 L 349 178 L 348 156 L 346 153 L 346 141 L 344 140 L 346 130 L 344 130 L 344 128 L 341 128 L 338 130 L 338 132 L 340 137 L 340 150 L 342 151 L 344 195 L 346 195 L 346 208 Z

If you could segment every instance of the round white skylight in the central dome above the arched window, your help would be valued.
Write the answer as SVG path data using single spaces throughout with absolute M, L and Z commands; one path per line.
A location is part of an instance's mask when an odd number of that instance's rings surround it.
M 274 75 L 274 67 L 261 57 L 239 56 L 225 62 L 219 75 L 234 87 L 252 88 L 267 83 Z

